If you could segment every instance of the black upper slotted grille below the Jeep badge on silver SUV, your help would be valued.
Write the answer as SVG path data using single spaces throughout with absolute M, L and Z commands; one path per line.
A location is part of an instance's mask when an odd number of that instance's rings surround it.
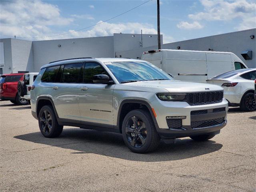
M 217 103 L 222 101 L 223 91 L 189 93 L 187 98 L 190 105 Z

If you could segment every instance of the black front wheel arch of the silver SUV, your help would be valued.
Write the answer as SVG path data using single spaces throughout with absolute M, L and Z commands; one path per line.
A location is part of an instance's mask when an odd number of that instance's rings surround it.
M 117 116 L 117 128 L 119 129 L 120 133 L 122 133 L 122 121 L 128 112 L 134 109 L 146 109 L 154 122 L 156 130 L 159 129 L 159 126 L 156 121 L 156 117 L 154 116 L 154 112 L 150 104 L 144 100 L 135 100 L 135 99 L 127 99 L 121 102 L 118 110 Z

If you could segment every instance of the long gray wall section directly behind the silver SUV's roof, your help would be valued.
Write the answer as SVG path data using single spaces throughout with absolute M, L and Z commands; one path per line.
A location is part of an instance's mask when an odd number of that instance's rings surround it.
M 60 45 L 60 47 L 58 47 Z M 113 36 L 33 41 L 34 69 L 49 62 L 80 57 L 113 57 Z

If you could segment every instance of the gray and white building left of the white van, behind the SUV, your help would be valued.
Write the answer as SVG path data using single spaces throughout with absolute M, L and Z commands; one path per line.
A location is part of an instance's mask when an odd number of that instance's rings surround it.
M 115 57 L 116 52 L 154 46 L 157 42 L 156 34 L 114 34 L 43 41 L 0 39 L 0 74 L 38 72 L 49 62 L 67 58 Z

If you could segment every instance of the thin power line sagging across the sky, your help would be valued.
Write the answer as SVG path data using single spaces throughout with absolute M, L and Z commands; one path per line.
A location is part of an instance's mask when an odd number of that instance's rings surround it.
M 78 31 L 81 31 L 81 30 L 84 30 L 84 29 L 88 29 L 88 28 L 94 27 L 94 26 L 96 26 L 96 25 L 102 24 L 102 23 L 107 22 L 107 21 L 109 21 L 109 20 L 112 20 L 112 19 L 114 19 L 114 18 L 117 18 L 117 17 L 119 17 L 119 16 L 121 16 L 121 15 L 123 15 L 123 14 L 126 14 L 126 13 L 128 13 L 128 12 L 130 12 L 130 11 L 132 11 L 132 10 L 134 10 L 134 9 L 136 9 L 136 8 L 138 8 L 138 7 L 142 6 L 142 5 L 144 5 L 144 4 L 146 4 L 147 2 L 150 2 L 150 1 L 152 1 L 152 0 L 148 0 L 148 1 L 146 1 L 146 2 L 144 2 L 144 3 L 142 3 L 142 4 L 139 4 L 138 6 L 132 8 L 132 9 L 126 11 L 126 12 L 123 12 L 123 13 L 117 15 L 117 16 L 114 16 L 114 17 L 109 18 L 109 19 L 107 19 L 107 20 L 104 20 L 104 21 L 102 21 L 102 22 L 96 23 L 96 24 L 94 24 L 94 25 L 87 26 L 87 27 L 82 28 L 82 29 L 78 29 L 78 30 L 74 30 L 74 31 L 66 32 L 66 33 L 62 33 L 62 34 L 51 35 L 51 36 L 42 36 L 42 37 L 19 37 L 19 36 L 16 36 L 16 38 L 47 38 L 47 37 L 54 37 L 54 36 L 66 35 L 66 34 L 78 32 Z M 10 36 L 10 35 L 5 35 L 5 34 L 0 34 L 0 35 L 8 36 L 8 37 L 13 37 L 13 36 Z

